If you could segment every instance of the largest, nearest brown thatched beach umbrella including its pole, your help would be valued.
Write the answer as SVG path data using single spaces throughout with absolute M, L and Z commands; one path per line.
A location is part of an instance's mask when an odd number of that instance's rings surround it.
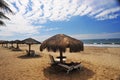
M 59 51 L 60 62 L 62 63 L 62 53 L 66 51 L 66 48 L 69 48 L 70 52 L 83 51 L 83 42 L 64 34 L 58 34 L 45 40 L 40 46 L 40 51 L 43 51 L 45 48 L 47 48 L 48 51 Z

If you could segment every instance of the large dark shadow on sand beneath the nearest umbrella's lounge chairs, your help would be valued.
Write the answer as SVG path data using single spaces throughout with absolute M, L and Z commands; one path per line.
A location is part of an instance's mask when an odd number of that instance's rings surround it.
M 44 76 L 49 80 L 88 80 L 92 78 L 94 74 L 92 70 L 85 67 L 83 67 L 81 71 L 73 70 L 69 74 L 53 67 L 44 69 Z

